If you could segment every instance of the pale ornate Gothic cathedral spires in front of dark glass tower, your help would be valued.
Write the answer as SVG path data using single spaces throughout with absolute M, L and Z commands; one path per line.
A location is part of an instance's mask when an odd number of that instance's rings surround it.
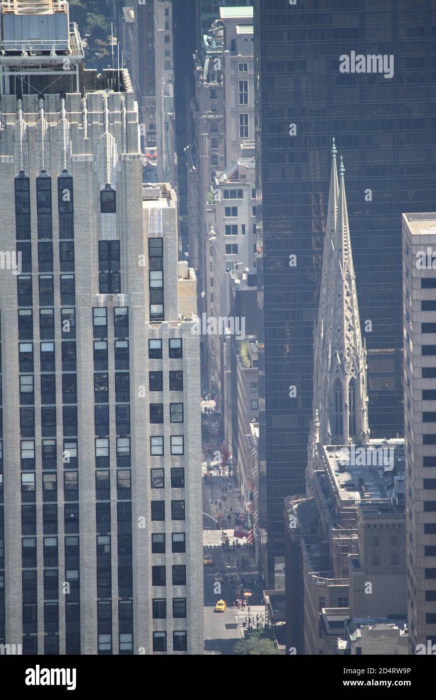
M 320 440 L 325 444 L 366 444 L 366 347 L 360 332 L 344 162 L 336 169 L 335 141 L 314 344 L 314 412 L 318 410 Z

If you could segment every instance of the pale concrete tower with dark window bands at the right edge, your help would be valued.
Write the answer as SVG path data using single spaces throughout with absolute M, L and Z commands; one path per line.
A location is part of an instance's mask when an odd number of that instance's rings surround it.
M 403 214 L 402 230 L 409 640 L 412 654 L 432 654 L 431 645 L 436 643 L 436 214 Z

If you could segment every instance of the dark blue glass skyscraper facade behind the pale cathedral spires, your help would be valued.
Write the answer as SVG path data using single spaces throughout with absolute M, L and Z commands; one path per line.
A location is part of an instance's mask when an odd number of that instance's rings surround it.
M 260 488 L 269 584 L 274 556 L 283 556 L 283 498 L 304 492 L 332 137 L 346 167 L 371 436 L 403 431 L 400 214 L 435 209 L 435 20 L 431 0 L 255 0 Z M 352 52 L 386 56 L 386 67 L 393 56 L 393 76 L 342 73 L 340 57 L 353 62 Z

